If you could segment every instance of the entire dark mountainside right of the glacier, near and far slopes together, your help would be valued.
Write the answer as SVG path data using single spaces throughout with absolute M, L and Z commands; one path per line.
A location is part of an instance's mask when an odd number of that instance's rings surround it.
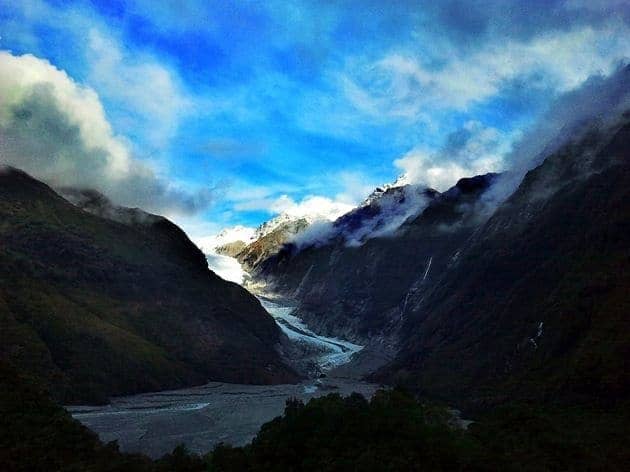
M 313 329 L 367 344 L 354 367 L 380 381 L 471 408 L 627 398 L 629 121 L 583 124 L 498 207 L 507 177 L 462 179 L 379 232 L 406 201 L 385 189 L 253 276 Z

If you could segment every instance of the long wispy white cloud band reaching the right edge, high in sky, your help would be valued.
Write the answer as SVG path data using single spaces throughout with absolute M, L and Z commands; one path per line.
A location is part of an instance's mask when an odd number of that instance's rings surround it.
M 603 29 L 582 27 L 529 41 L 490 43 L 466 55 L 445 44 L 434 45 L 435 58 L 394 51 L 376 61 L 350 61 L 340 86 L 357 110 L 376 120 L 430 120 L 432 111 L 465 110 L 521 77 L 537 76 L 540 85 L 557 92 L 574 89 L 595 73 L 609 73 L 630 55 L 628 33 L 625 24 L 613 22 Z M 435 60 L 443 65 L 431 64 Z M 530 86 L 536 80 L 530 79 Z

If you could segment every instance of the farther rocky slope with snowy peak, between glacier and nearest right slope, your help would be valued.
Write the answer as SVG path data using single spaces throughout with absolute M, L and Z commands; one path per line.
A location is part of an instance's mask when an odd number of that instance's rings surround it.
M 297 299 L 299 315 L 317 330 L 393 347 L 408 298 L 450 264 L 478 223 L 478 200 L 494 178 L 462 179 L 443 194 L 389 188 L 339 218 L 334 239 L 299 251 L 287 246 L 254 275 Z M 383 231 L 394 220 L 406 221 Z

